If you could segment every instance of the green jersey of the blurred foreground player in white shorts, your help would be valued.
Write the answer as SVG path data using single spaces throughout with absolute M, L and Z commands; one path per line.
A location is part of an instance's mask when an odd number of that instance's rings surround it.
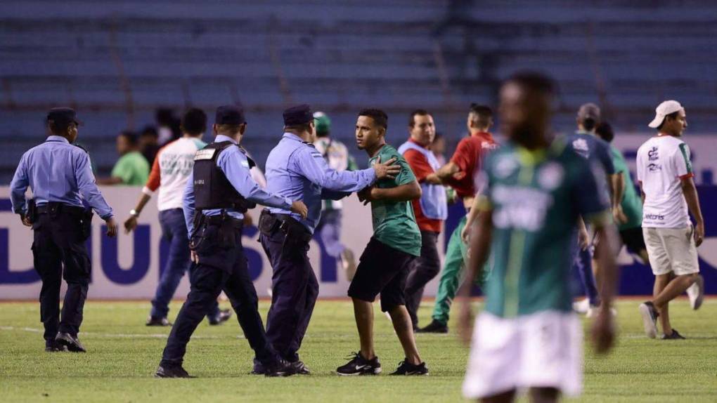
M 486 311 L 571 311 L 575 223 L 610 217 L 590 162 L 562 139 L 536 151 L 508 143 L 488 155 L 484 175 L 481 208 L 493 215 Z

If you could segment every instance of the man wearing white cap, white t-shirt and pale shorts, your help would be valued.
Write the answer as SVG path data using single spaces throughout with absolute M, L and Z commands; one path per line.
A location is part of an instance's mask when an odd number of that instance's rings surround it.
M 653 298 L 640 304 L 645 334 L 657 336 L 657 317 L 663 339 L 684 339 L 670 326 L 668 304 L 696 284 L 698 309 L 703 297 L 703 279 L 699 275 L 697 247 L 705 236 L 690 148 L 680 139 L 687 127 L 685 109 L 677 101 L 657 106 L 655 119 L 648 126 L 657 136 L 637 150 L 637 180 L 642 189 L 642 233 L 647 255 L 655 274 Z M 690 222 L 690 215 L 695 225 Z M 693 290 L 695 288 L 692 288 Z

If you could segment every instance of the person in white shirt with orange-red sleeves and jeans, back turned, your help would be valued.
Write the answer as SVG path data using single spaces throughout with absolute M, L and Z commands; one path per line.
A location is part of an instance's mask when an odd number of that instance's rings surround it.
M 142 209 L 154 191 L 159 189 L 157 198 L 159 223 L 164 238 L 169 242 L 169 253 L 152 300 L 147 326 L 171 326 L 167 319 L 169 301 L 174 296 L 182 276 L 188 270 L 189 281 L 191 281 L 192 263 L 189 259 L 189 237 L 182 210 L 182 196 L 194 168 L 194 154 L 206 145 L 201 141 L 201 136 L 206 131 L 204 111 L 196 108 L 187 110 L 181 120 L 181 130 L 184 134 L 182 137 L 168 142 L 157 152 L 149 179 L 142 189 L 142 195 L 136 207 L 130 210 L 130 217 L 125 220 L 125 233 L 137 228 L 137 218 Z M 221 324 L 230 316 L 232 311 L 220 310 L 219 304 L 214 304 L 206 315 L 209 324 L 212 325 Z

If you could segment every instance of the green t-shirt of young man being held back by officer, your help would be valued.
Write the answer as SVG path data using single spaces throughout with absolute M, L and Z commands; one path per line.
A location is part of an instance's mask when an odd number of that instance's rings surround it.
M 379 153 L 371 157 L 369 164 L 376 162 L 377 157 L 381 157 L 381 162 L 396 158 L 395 163 L 401 165 L 401 172 L 396 179 L 381 179 L 375 184 L 378 188 L 395 188 L 416 180 L 408 162 L 391 145 L 381 147 Z M 374 221 L 374 238 L 409 255 L 421 256 L 421 231 L 410 201 L 375 200 L 371 202 L 371 217 Z

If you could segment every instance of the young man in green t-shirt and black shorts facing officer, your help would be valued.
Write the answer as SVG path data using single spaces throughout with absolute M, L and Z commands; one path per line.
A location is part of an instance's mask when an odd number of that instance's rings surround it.
M 356 144 L 369 154 L 369 162 L 395 159 L 401 170 L 395 178 L 379 180 L 359 192 L 359 200 L 371 203 L 374 236 L 361 255 L 356 275 L 348 287 L 361 349 L 351 361 L 336 369 L 337 374 L 344 376 L 381 373 L 379 357 L 374 351 L 373 302 L 379 293 L 381 311 L 391 316 L 406 357 L 391 375 L 428 374 L 416 348 L 404 296 L 411 264 L 421 255 L 421 233 L 411 206 L 411 200 L 421 197 L 421 187 L 404 157 L 386 144 L 387 120 L 385 112 L 369 109 L 362 110 L 356 122 Z

